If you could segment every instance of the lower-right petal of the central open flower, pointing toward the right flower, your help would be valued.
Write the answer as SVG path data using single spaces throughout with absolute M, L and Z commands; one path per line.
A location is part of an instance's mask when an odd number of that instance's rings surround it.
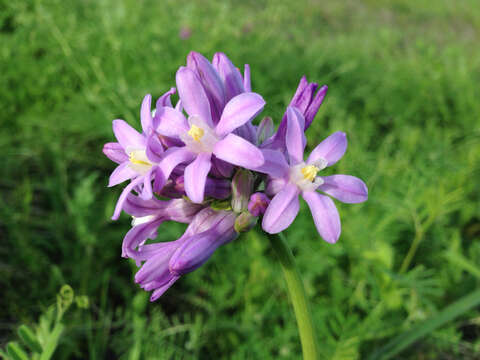
M 234 134 L 228 134 L 217 142 L 213 153 L 219 159 L 246 169 L 258 168 L 265 162 L 262 152 L 255 145 Z

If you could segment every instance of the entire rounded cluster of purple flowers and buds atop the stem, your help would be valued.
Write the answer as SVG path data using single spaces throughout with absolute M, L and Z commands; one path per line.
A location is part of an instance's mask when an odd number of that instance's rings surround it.
M 251 90 L 248 65 L 242 75 L 223 53 L 210 62 L 191 52 L 187 66 L 177 71 L 176 88 L 163 94 L 153 111 L 152 97 L 143 99 L 141 132 L 113 121 L 117 142 L 103 148 L 118 163 L 109 186 L 129 184 L 112 218 L 122 210 L 133 217 L 122 256 L 136 261 L 135 281 L 153 290 L 152 301 L 259 218 L 268 233 L 285 230 L 298 214 L 299 195 L 320 236 L 338 240 L 340 217 L 329 196 L 359 203 L 368 191 L 354 176 L 319 175 L 345 153 L 342 132 L 322 141 L 305 160 L 305 131 L 327 91 L 317 88 L 302 77 L 275 132 L 269 117 L 253 124 L 265 101 Z M 175 241 L 147 243 L 165 221 L 189 225 Z

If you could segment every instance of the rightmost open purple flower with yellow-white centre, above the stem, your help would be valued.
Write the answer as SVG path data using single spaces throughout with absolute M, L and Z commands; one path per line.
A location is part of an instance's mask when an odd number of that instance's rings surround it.
M 340 236 L 340 216 L 337 208 L 320 190 L 345 203 L 360 203 L 367 200 L 368 190 L 364 182 L 350 175 L 317 176 L 327 166 L 335 164 L 347 149 L 344 133 L 336 132 L 322 141 L 304 161 L 305 119 L 294 108 L 287 108 L 286 148 L 289 165 L 279 160 L 275 163 L 275 177 L 270 181 L 267 192 L 275 194 L 263 216 L 262 227 L 268 233 L 285 230 L 299 211 L 298 196 L 301 194 L 312 212 L 320 236 L 335 243 Z

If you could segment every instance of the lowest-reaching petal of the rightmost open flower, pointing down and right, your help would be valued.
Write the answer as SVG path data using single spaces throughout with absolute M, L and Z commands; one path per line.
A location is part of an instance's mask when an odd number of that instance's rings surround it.
M 304 191 L 303 198 L 310 207 L 313 221 L 320 236 L 329 243 L 337 242 L 340 237 L 341 225 L 340 215 L 328 196 L 321 195 L 315 191 Z

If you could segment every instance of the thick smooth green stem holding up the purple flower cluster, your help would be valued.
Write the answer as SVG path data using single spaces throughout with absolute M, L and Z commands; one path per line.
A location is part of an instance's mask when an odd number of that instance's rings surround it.
M 283 275 L 287 282 L 290 300 L 292 301 L 295 317 L 297 318 L 297 326 L 300 333 L 300 341 L 302 343 L 303 359 L 317 360 L 319 356 L 315 328 L 313 326 L 305 288 L 303 287 L 300 273 L 295 265 L 295 258 L 293 257 L 283 234 L 267 234 L 267 237 L 277 254 L 278 260 L 280 260 L 280 264 L 282 264 Z

